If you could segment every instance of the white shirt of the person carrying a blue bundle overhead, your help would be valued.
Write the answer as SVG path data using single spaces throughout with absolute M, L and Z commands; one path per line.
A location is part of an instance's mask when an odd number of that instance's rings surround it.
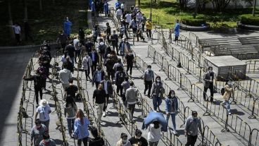
M 161 138 L 161 125 L 159 124 L 159 128 L 155 129 L 153 123 L 149 125 L 149 133 L 148 133 L 148 141 L 158 142 Z

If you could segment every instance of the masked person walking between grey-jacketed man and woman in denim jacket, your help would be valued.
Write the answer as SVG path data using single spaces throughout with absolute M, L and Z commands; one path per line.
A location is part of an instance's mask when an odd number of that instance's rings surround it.
M 151 88 L 151 94 L 153 98 L 153 109 L 155 111 L 161 111 L 159 106 L 162 103 L 164 93 L 165 89 L 163 88 L 163 84 L 161 83 L 161 78 L 160 76 L 156 76 L 156 81 L 153 83 Z

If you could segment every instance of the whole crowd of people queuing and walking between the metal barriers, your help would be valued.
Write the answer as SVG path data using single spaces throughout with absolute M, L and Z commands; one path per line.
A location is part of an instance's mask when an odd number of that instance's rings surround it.
M 89 9 L 93 17 L 98 17 L 100 13 L 104 16 L 109 16 L 110 11 L 107 1 L 90 1 Z M 97 128 L 90 126 L 89 117 L 84 116 L 82 109 L 77 108 L 76 102 L 78 88 L 73 85 L 74 69 L 82 68 L 86 78 L 86 82 L 90 83 L 94 88 L 92 95 L 93 107 L 97 111 L 97 125 L 101 126 L 102 117 L 106 117 L 108 113 L 109 99 L 112 99 L 112 108 L 115 108 L 114 92 L 119 97 L 127 108 L 127 113 L 130 122 L 134 123 L 134 111 L 137 102 L 139 102 L 139 90 L 135 87 L 131 80 L 132 68 L 135 62 L 135 54 L 132 49 L 128 35 L 130 28 L 136 34 L 137 41 L 139 38 L 144 40 L 143 32 L 146 28 L 146 37 L 151 39 L 152 23 L 149 18 L 146 18 L 141 13 L 138 6 L 132 6 L 130 11 L 125 10 L 125 3 L 118 1 L 115 4 L 115 16 L 120 22 L 120 31 L 111 31 L 110 24 L 106 23 L 106 30 L 101 32 L 99 25 L 95 25 L 92 30 L 92 37 L 85 37 L 82 28 L 79 28 L 78 35 L 70 36 L 70 27 L 72 23 L 66 18 L 64 22 L 64 30 L 58 35 L 58 42 L 61 44 L 63 56 L 61 56 L 62 68 L 58 73 L 58 79 L 65 92 L 62 97 L 65 103 L 63 104 L 64 116 L 68 123 L 68 134 L 70 138 L 77 139 L 77 145 L 98 146 L 104 145 L 103 138 L 100 137 Z M 104 35 L 103 35 L 104 34 Z M 133 36 L 134 37 L 134 36 Z M 175 26 L 175 41 L 179 37 L 179 21 Z M 31 130 L 32 145 L 56 145 L 49 137 L 49 123 L 51 108 L 46 99 L 42 99 L 42 90 L 46 90 L 46 80 L 49 78 L 49 68 L 51 67 L 51 47 L 44 43 L 39 50 L 39 68 L 34 75 L 30 77 L 24 76 L 24 80 L 34 81 L 34 92 L 37 104 L 36 114 L 34 116 L 35 125 Z M 78 65 L 82 61 L 81 66 Z M 75 66 L 77 64 L 77 66 Z M 141 136 L 141 130 L 137 129 L 132 138 L 127 137 L 127 134 L 121 133 L 120 140 L 116 146 L 156 146 L 161 138 L 161 131 L 172 129 L 172 133 L 177 135 L 176 116 L 179 112 L 178 97 L 174 90 L 165 92 L 162 79 L 160 76 L 155 76 L 151 65 L 147 66 L 144 71 L 144 95 L 153 101 L 153 110 L 159 113 L 161 118 L 153 118 L 150 114 L 148 137 Z M 91 75 L 90 75 L 91 74 Z M 208 100 L 206 92 L 210 90 L 210 102 L 213 103 L 213 79 L 216 78 L 213 68 L 208 68 L 208 73 L 204 75 L 204 100 Z M 50 79 L 50 78 L 49 78 Z M 116 88 L 116 89 L 115 89 Z M 233 85 L 227 82 L 225 91 L 222 93 L 225 102 L 222 106 L 227 107 L 229 114 L 229 97 L 233 94 Z M 165 107 L 161 107 L 163 97 L 165 97 Z M 40 101 L 39 101 L 40 97 Z M 163 116 L 161 108 L 165 109 Z M 37 118 L 39 116 L 39 118 Z M 168 122 L 172 119 L 172 128 L 168 127 Z M 145 128 L 143 128 L 145 129 Z M 89 130 L 94 138 L 89 138 Z M 198 130 L 202 133 L 201 118 L 198 118 L 198 113 L 192 111 L 191 116 L 187 118 L 184 132 L 187 136 L 187 146 L 194 145 L 198 137 Z

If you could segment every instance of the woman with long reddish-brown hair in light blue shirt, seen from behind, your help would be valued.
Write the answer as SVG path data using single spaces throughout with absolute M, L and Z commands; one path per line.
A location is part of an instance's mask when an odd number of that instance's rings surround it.
M 74 124 L 74 136 L 77 138 L 77 145 L 81 146 L 82 142 L 84 146 L 87 146 L 87 140 L 89 137 L 88 126 L 89 120 L 84 116 L 82 109 L 77 110 L 77 118 Z

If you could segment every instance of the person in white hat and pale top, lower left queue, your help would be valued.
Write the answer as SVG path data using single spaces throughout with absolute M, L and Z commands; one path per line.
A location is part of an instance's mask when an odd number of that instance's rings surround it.
M 41 123 L 44 124 L 47 129 L 49 129 L 49 114 L 51 114 L 51 108 L 49 107 L 49 104 L 46 101 L 46 99 L 42 99 L 39 102 L 39 107 L 37 107 L 36 109 L 35 121 L 37 119 L 38 114 L 39 121 L 41 121 Z

